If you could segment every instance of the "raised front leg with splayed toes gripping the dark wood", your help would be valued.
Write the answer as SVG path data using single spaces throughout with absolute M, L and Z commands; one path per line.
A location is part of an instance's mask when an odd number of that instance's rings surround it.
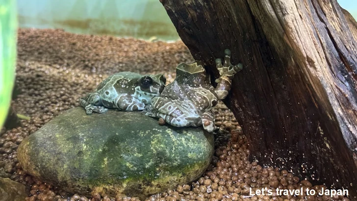
M 219 78 L 215 80 L 217 87 L 215 92 L 219 100 L 225 99 L 229 93 L 231 82 L 233 76 L 243 69 L 243 65 L 239 63 L 238 65 L 233 66 L 230 63 L 230 50 L 225 50 L 225 59 L 222 66 L 222 60 L 216 59 L 216 67 L 219 71 Z

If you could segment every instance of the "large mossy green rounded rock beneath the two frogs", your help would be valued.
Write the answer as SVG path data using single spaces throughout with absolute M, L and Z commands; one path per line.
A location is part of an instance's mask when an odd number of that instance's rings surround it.
M 27 173 L 68 192 L 144 198 L 198 178 L 213 147 L 213 134 L 202 128 L 159 126 L 140 112 L 86 115 L 77 107 L 28 136 L 18 158 Z

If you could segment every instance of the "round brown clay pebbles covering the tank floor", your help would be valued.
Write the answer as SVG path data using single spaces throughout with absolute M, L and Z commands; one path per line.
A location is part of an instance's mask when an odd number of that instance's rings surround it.
M 22 140 L 64 110 L 78 106 L 78 98 L 95 89 L 106 76 L 133 71 L 175 77 L 178 63 L 192 62 L 181 42 L 146 42 L 112 36 L 78 35 L 55 29 L 19 29 L 16 84 L 20 95 L 12 102 L 18 113 L 31 117 L 23 126 L 0 132 L 0 176 L 25 184 L 26 201 L 137 201 L 135 198 L 93 198 L 71 195 L 27 175 L 17 159 Z M 290 170 L 263 168 L 249 161 L 249 146 L 232 112 L 219 102 L 214 109 L 216 151 L 210 167 L 197 181 L 178 186 L 146 201 L 350 201 L 343 196 L 250 196 L 250 188 L 310 189 L 321 192 Z M 250 145 L 254 146 L 254 145 Z

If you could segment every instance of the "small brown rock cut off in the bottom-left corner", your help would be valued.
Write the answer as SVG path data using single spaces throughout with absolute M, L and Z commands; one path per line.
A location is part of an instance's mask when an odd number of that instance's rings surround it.
M 0 201 L 24 201 L 25 185 L 12 181 L 9 178 L 0 178 Z

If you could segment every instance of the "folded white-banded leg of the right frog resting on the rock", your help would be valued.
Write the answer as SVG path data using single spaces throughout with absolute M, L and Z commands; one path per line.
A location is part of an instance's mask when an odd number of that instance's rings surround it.
M 176 127 L 201 126 L 202 120 L 197 108 L 190 101 L 169 100 L 154 97 L 142 114 L 150 117 L 161 117 L 168 124 Z

